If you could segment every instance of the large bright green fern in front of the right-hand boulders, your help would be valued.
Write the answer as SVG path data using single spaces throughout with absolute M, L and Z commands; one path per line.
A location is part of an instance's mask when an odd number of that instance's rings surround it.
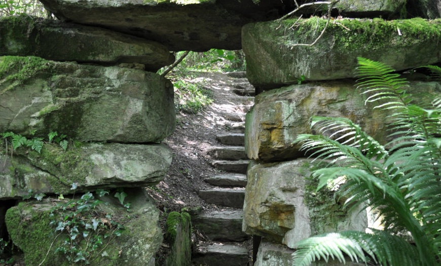
M 309 265 L 320 258 L 345 261 L 346 255 L 352 261 L 380 265 L 439 265 L 441 97 L 427 106 L 414 105 L 406 92 L 407 81 L 393 69 L 364 58 L 358 58 L 358 64 L 358 88 L 368 95 L 366 103 L 392 113 L 393 140 L 383 146 L 349 119 L 313 117 L 311 127 L 320 135 L 301 135 L 297 142 L 313 156 L 330 160 L 312 174 L 319 180 L 317 190 L 332 186 L 347 198 L 345 206 L 376 210 L 385 229 L 300 241 L 293 263 Z M 441 74 L 441 68 L 431 70 Z M 415 244 L 406 238 L 409 234 Z

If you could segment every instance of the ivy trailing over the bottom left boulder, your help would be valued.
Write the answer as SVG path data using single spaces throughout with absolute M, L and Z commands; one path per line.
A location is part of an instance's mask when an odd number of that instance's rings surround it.
M 101 197 L 109 191 L 98 189 Z M 121 202 L 121 200 L 120 200 Z M 124 222 L 101 210 L 105 204 L 91 192 L 80 198 L 66 200 L 59 197 L 59 203 L 51 210 L 51 225 L 57 237 L 64 240 L 55 248 L 56 253 L 64 255 L 69 263 L 90 264 L 98 256 L 106 256 L 104 249 L 124 230 Z M 55 243 L 56 239 L 54 239 Z

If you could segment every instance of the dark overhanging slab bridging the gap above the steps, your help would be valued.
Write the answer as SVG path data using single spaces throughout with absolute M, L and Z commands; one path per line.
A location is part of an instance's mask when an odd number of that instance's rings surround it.
M 291 1 L 272 0 L 42 0 L 58 18 L 154 40 L 172 51 L 241 49 L 246 23 L 276 19 Z

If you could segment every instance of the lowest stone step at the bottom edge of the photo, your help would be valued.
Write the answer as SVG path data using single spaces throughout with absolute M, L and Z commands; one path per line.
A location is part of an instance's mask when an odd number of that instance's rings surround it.
M 235 244 L 200 245 L 192 254 L 194 265 L 246 266 L 248 250 Z

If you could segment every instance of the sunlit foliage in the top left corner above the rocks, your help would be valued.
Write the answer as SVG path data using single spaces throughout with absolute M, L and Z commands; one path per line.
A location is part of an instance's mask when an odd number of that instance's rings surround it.
M 37 0 L 0 0 L 0 17 L 28 14 L 36 17 L 48 17 L 43 4 Z

